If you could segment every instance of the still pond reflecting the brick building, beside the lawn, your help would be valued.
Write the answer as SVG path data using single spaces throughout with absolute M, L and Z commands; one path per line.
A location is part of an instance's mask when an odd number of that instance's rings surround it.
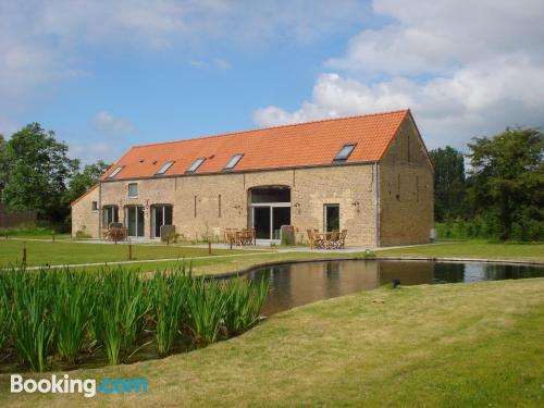
M 544 276 L 544 267 L 482 262 L 398 260 L 341 260 L 288 263 L 257 269 L 259 281 L 270 277 L 270 293 L 262 314 L 317 300 L 374 289 L 395 279 L 401 285 L 497 281 Z

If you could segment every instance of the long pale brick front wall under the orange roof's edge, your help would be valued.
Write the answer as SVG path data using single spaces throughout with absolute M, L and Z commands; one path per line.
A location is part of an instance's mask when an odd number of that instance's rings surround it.
M 188 239 L 250 225 L 248 190 L 257 186 L 288 186 L 292 188 L 292 224 L 296 240 L 307 243 L 308 228 L 324 227 L 324 205 L 337 203 L 341 228 L 348 230 L 349 245 L 375 245 L 374 164 L 277 170 L 247 173 L 189 175 L 138 181 L 103 182 L 72 209 L 73 234 L 85 225 L 87 233 L 98 237 L 98 213 L 91 201 L 101 207 L 118 206 L 120 221 L 125 206 L 145 208 L 145 237 L 151 237 L 151 207 L 173 205 L 176 232 Z M 138 184 L 138 197 L 128 197 L 128 184 Z M 221 202 L 221 205 L 220 205 Z M 220 210 L 221 207 L 221 210 Z

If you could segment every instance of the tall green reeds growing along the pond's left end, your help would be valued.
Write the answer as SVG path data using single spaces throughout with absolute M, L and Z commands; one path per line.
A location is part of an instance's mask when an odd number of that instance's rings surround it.
M 184 267 L 150 274 L 2 270 L 0 361 L 13 355 L 45 371 L 89 353 L 110 364 L 126 362 L 150 343 L 160 356 L 178 343 L 208 345 L 254 326 L 268 289 L 268 281 L 193 277 Z

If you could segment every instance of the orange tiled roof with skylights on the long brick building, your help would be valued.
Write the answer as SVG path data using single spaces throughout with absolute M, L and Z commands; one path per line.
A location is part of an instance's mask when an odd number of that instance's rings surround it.
M 331 164 L 350 143 L 357 146 L 347 163 L 379 161 L 407 114 L 401 110 L 135 146 L 102 178 L 120 165 L 114 180 L 153 176 L 168 161 L 174 164 L 165 175 L 184 174 L 198 158 L 206 161 L 196 174 L 221 172 L 236 153 L 244 157 L 232 171 Z

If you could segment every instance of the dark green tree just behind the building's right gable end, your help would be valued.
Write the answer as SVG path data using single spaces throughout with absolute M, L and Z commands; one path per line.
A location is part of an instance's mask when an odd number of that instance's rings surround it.
M 429 152 L 434 163 L 434 214 L 444 221 L 466 214 L 465 158 L 450 146 Z

